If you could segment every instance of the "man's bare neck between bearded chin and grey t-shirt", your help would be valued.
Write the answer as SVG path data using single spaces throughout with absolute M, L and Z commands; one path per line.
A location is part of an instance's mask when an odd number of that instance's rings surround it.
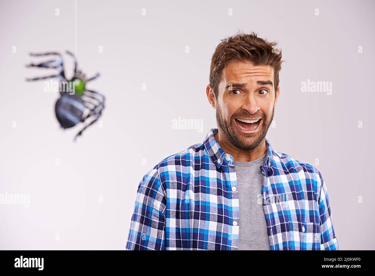
M 220 136 L 219 132 L 217 132 L 214 137 L 223 151 L 233 156 L 235 161 L 250 162 L 257 160 L 258 158 L 266 154 L 266 139 L 263 139 L 258 147 L 254 148 L 254 150 L 241 150 L 228 142 L 228 140 L 225 139 L 223 135 Z

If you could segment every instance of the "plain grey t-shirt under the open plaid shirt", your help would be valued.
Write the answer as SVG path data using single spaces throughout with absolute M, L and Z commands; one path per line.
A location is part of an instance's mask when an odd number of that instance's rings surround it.
M 264 181 L 260 166 L 266 154 L 250 162 L 234 161 L 239 198 L 238 250 L 270 250 L 263 205 L 258 204 Z

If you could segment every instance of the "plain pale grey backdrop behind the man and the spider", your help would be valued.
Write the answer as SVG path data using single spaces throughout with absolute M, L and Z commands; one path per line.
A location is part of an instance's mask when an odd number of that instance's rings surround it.
M 103 127 L 75 143 L 80 127 L 55 118 L 58 93 L 25 81 L 54 71 L 24 67 L 44 60 L 29 52 L 75 51 L 75 1 L 0 3 L 0 193 L 30 195 L 28 208 L 0 205 L 0 249 L 124 249 L 142 176 L 216 127 L 210 58 L 238 28 L 282 48 L 273 148 L 321 171 L 341 250 L 375 249 L 374 1 L 78 0 L 79 67 L 101 73 L 87 87 L 107 102 Z M 332 95 L 301 92 L 308 79 L 332 81 Z M 203 131 L 172 129 L 178 117 L 202 119 Z

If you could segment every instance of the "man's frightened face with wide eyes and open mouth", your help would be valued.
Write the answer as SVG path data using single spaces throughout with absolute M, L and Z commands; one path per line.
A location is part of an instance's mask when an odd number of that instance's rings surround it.
M 272 66 L 250 62 L 232 61 L 223 69 L 216 99 L 217 126 L 241 150 L 253 150 L 267 134 L 279 95 L 278 88 L 275 96 L 273 74 Z

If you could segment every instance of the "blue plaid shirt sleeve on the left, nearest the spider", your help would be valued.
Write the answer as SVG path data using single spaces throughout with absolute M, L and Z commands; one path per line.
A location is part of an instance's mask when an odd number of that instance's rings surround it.
M 165 208 L 155 166 L 139 182 L 125 250 L 165 250 Z

